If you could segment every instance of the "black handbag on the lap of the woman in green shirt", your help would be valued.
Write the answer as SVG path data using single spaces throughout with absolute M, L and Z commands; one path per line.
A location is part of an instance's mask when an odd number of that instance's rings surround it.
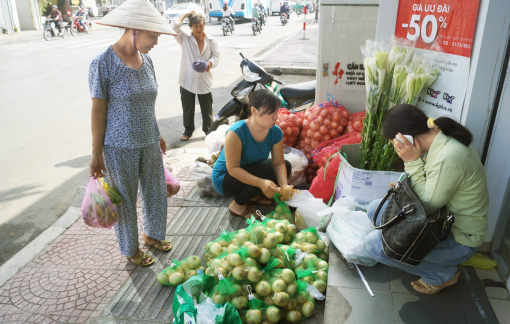
M 386 201 L 388 206 L 381 215 L 381 225 L 376 226 L 377 215 Z M 372 225 L 381 230 L 384 254 L 417 266 L 440 241 L 448 238 L 454 221 L 453 214 L 446 216 L 446 206 L 427 215 L 409 176 L 404 174 L 377 207 Z

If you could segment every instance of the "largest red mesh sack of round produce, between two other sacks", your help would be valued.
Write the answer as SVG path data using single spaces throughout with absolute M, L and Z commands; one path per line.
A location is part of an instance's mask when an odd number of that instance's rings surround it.
M 297 149 L 305 149 L 308 160 L 311 151 L 323 142 L 342 135 L 349 121 L 349 112 L 337 102 L 327 101 L 306 109 Z

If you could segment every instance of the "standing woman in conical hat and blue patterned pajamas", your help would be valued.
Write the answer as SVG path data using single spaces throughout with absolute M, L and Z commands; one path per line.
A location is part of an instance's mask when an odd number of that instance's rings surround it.
M 169 251 L 165 240 L 167 185 L 161 151 L 166 143 L 155 115 L 158 84 L 149 51 L 173 30 L 148 0 L 127 0 L 98 24 L 124 34 L 90 64 L 92 158 L 90 176 L 105 177 L 124 202 L 117 206 L 115 233 L 122 255 L 139 266 L 154 263 L 138 246 L 136 200 L 143 199 L 143 240 Z M 170 188 L 175 194 L 179 188 Z

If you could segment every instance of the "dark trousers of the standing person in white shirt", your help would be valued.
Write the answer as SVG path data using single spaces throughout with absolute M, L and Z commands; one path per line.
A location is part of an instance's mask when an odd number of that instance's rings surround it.
M 200 110 L 202 111 L 202 130 L 207 134 L 212 125 L 212 94 L 197 95 L 181 87 L 182 120 L 184 135 L 191 136 L 195 131 L 195 96 L 198 96 Z

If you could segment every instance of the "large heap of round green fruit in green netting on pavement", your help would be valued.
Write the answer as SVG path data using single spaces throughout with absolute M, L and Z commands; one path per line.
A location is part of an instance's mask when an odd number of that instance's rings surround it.
M 277 209 L 288 212 L 282 204 Z M 277 209 L 274 213 L 281 212 Z M 232 304 L 243 323 L 300 322 L 313 316 L 315 298 L 324 298 L 319 292 L 325 292 L 327 282 L 328 264 L 320 259 L 327 259 L 324 241 L 313 228 L 296 234 L 287 219 L 262 218 L 252 217 L 248 227 L 224 231 L 206 244 L 205 275 L 215 280 L 208 295 L 217 305 Z

